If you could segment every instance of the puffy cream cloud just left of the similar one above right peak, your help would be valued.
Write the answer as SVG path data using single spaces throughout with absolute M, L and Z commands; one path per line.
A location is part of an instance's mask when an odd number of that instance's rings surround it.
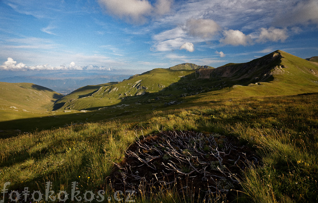
M 252 42 L 252 39 L 250 36 L 245 35 L 239 30 L 225 30 L 223 31 L 224 38 L 220 40 L 223 44 L 229 44 L 229 45 L 248 45 Z

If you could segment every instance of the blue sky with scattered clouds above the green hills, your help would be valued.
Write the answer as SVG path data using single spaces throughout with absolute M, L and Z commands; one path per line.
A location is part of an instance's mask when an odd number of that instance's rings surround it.
M 0 74 L 318 55 L 317 0 L 0 0 L 0 11 Z

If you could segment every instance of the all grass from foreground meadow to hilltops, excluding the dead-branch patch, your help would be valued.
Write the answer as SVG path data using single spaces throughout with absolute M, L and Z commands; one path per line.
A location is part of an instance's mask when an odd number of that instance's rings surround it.
M 12 91 L 19 94 L 11 100 L 1 98 L 0 125 L 6 131 L 1 132 L 5 136 L 0 139 L 0 186 L 9 181 L 9 191 L 29 187 L 43 192 L 45 182 L 51 181 L 52 190 L 71 191 L 76 181 L 81 194 L 88 190 L 97 194 L 102 189 L 114 197 L 109 178 L 114 174 L 114 163 L 124 160 L 126 149 L 136 137 L 189 130 L 235 136 L 257 150 L 261 164 L 242 169 L 242 189 L 230 197 L 234 202 L 316 202 L 318 94 L 310 92 L 317 92 L 317 77 L 311 71 L 316 71 L 317 65 L 282 51 L 275 53 L 283 58 L 262 67 L 281 65 L 284 73 L 275 72 L 271 80 L 260 85 L 248 86 L 254 79 L 238 75 L 204 79 L 195 70 L 154 69 L 121 83 L 80 88 L 59 100 L 57 107 L 62 108 L 51 112 L 46 110 L 57 97 L 54 92 L 19 83 L 25 86 L 23 91 L 15 85 Z M 239 67 L 259 66 L 268 57 L 271 54 L 245 64 L 228 64 L 223 69 L 240 70 L 241 76 L 247 76 Z M 213 75 L 220 70 L 206 71 Z M 264 74 L 263 69 L 252 71 Z M 2 89 L 4 96 L 9 89 Z M 171 101 L 176 104 L 170 105 Z M 15 108 L 10 108 L 13 105 Z M 86 112 L 80 111 L 83 109 Z M 29 133 L 13 135 L 19 131 L 12 129 Z M 189 171 L 186 165 L 182 168 Z M 226 181 L 218 184 L 230 187 Z M 180 194 L 176 188 L 162 187 L 150 196 L 145 194 L 137 191 L 135 199 L 204 199 L 192 196 L 191 188 Z

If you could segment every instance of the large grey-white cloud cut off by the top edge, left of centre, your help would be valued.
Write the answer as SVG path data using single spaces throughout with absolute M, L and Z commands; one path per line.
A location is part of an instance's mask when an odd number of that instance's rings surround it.
M 155 6 L 148 0 L 98 0 L 99 4 L 106 9 L 108 14 L 132 23 L 144 23 L 147 17 L 170 11 L 172 0 L 157 0 Z

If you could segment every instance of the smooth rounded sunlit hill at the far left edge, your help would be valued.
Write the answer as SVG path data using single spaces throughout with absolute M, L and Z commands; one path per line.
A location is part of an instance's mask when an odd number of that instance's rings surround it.
M 62 94 L 33 83 L 0 82 L 1 120 L 51 111 L 54 101 L 62 97 Z

